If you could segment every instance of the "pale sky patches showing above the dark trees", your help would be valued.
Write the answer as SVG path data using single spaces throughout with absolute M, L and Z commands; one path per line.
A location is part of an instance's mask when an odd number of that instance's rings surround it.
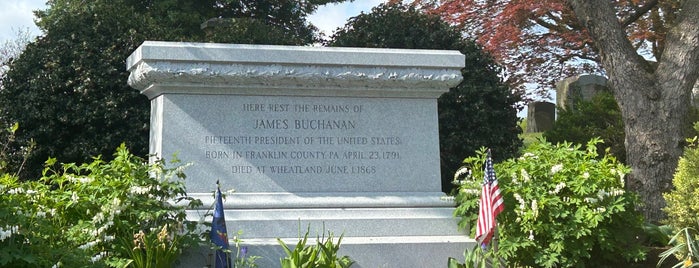
M 359 15 L 362 11 L 368 13 L 372 7 L 383 2 L 385 0 L 354 0 L 342 4 L 328 4 L 318 8 L 309 20 L 326 36 L 330 36 L 335 29 L 345 25 L 350 17 Z M 29 30 L 32 35 L 41 34 L 34 25 L 32 11 L 44 8 L 46 0 L 0 0 L 0 44 L 16 39 L 20 30 Z

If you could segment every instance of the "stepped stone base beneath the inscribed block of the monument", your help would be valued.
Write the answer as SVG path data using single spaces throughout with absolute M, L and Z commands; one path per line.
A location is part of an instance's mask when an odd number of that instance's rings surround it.
M 195 197 L 211 207 L 207 195 Z M 449 257 L 462 259 L 475 244 L 457 230 L 454 205 L 443 193 L 241 193 L 229 194 L 224 207 L 229 244 L 241 231 L 248 256 L 262 257 L 259 267 L 280 267 L 286 254 L 277 238 L 293 249 L 307 231 L 307 245 L 329 232 L 335 241 L 344 235 L 338 255 L 360 268 L 445 267 Z M 206 212 L 190 211 L 189 217 L 200 220 Z M 181 267 L 210 265 L 212 253 L 200 249 Z

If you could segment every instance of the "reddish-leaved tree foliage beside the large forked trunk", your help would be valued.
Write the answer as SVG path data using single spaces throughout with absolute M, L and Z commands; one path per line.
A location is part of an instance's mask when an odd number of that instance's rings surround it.
M 660 55 L 678 0 L 613 1 L 617 18 L 639 52 Z M 462 27 L 466 36 L 505 66 L 505 78 L 513 86 L 537 85 L 529 97 L 546 96 L 556 81 L 571 75 L 604 73 L 594 43 L 565 0 L 414 0 L 413 4 Z

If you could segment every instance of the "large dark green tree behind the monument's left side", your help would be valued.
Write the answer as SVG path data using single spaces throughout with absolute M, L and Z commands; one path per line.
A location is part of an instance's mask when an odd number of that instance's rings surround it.
M 148 153 L 149 102 L 127 85 L 124 68 L 144 40 L 309 44 L 319 38 L 306 16 L 318 5 L 342 1 L 49 1 L 47 10 L 36 12 L 44 36 L 10 64 L 0 90 L 0 119 L 19 122 L 17 144 L 36 142 L 20 176 L 36 177 L 49 157 L 76 163 L 108 158 L 122 142 L 136 155 Z M 211 18 L 256 21 L 267 30 L 247 31 L 248 24 L 234 22 L 207 36 L 201 24 Z

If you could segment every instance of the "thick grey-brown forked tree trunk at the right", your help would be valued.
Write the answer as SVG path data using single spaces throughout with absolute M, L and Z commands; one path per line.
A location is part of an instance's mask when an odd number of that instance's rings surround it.
M 699 1 L 683 2 L 657 65 L 637 54 L 611 1 L 568 4 L 590 32 L 622 110 L 626 159 L 632 168 L 627 188 L 639 193 L 646 220 L 657 223 L 664 218 L 662 193 L 672 187 L 691 124 L 691 90 L 699 75 Z

